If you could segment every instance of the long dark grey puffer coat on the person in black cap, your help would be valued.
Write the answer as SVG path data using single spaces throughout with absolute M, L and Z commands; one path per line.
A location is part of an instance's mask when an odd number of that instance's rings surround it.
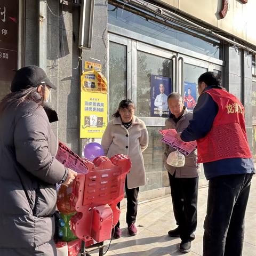
M 0 114 L 0 255 L 56 255 L 56 183 L 65 167 L 43 107 L 33 101 Z

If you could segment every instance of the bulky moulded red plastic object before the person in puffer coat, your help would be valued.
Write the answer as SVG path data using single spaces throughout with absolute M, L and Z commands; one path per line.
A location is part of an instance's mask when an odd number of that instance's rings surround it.
M 118 222 L 120 210 L 116 205 L 124 197 L 131 161 L 118 154 L 85 162 L 89 173 L 79 174 L 73 182 L 70 200 L 77 213 L 70 219 L 70 228 L 85 242 L 94 239 L 99 243 L 110 239 L 111 229 Z

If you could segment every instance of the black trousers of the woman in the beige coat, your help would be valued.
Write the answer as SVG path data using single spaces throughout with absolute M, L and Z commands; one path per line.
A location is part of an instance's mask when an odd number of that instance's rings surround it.
M 136 221 L 139 188 L 128 188 L 127 178 L 125 179 L 125 193 L 127 198 L 126 223 L 127 225 L 131 225 Z M 120 209 L 120 202 L 117 204 L 117 207 Z M 119 226 L 120 226 L 120 222 L 118 220 L 116 227 L 119 227 Z

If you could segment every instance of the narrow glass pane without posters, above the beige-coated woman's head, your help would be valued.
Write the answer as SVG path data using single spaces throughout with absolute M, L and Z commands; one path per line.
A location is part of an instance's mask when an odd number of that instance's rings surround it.
M 110 42 L 109 45 L 109 120 L 121 100 L 126 99 L 127 63 L 125 45 Z

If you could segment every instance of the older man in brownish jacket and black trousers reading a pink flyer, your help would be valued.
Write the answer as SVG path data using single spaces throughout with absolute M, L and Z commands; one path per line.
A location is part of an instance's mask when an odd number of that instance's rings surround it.
M 168 96 L 168 106 L 171 111 L 166 120 L 165 129 L 175 129 L 182 132 L 189 125 L 193 114 L 184 107 L 179 93 Z M 183 167 L 173 167 L 166 163 L 169 154 L 176 149 L 166 145 L 164 165 L 168 171 L 174 217 L 178 227 L 168 232 L 171 237 L 181 238 L 180 251 L 189 252 L 191 241 L 195 239 L 193 232 L 197 225 L 197 192 L 198 192 L 198 165 L 196 149 L 185 157 Z

